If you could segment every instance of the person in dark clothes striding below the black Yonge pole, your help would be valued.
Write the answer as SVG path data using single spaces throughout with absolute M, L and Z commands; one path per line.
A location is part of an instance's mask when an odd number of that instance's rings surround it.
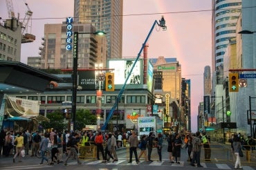
M 67 147 L 70 147 L 70 151 L 68 153 L 68 157 L 66 157 L 66 160 L 64 161 L 65 166 L 68 165 L 67 161 L 71 157 L 72 154 L 74 155 L 75 160 L 77 160 L 77 164 L 82 164 L 82 162 L 80 162 L 78 155 L 77 155 L 77 152 L 78 152 L 77 138 L 78 138 L 78 133 L 74 133 L 74 135 L 72 136 L 70 141 L 68 141 Z

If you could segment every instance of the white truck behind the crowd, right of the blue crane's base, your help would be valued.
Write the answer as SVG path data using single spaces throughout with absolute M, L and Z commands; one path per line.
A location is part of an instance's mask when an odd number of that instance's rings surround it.
M 149 135 L 151 131 L 155 134 L 163 131 L 160 117 L 138 117 L 138 136 Z

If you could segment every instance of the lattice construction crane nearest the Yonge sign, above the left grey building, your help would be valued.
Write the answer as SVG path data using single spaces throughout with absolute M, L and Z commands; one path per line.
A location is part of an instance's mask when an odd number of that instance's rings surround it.
M 25 5 L 26 5 L 28 11 L 26 12 L 26 16 L 24 17 L 24 19 L 22 21 L 22 26 L 21 26 L 22 39 L 21 39 L 21 43 L 29 43 L 29 42 L 35 41 L 35 35 L 31 34 L 31 28 L 32 28 L 31 18 L 32 18 L 33 12 L 28 7 L 28 3 L 25 2 Z M 29 21 L 30 21 L 30 24 L 28 24 Z M 30 33 L 28 33 L 28 28 L 30 28 Z

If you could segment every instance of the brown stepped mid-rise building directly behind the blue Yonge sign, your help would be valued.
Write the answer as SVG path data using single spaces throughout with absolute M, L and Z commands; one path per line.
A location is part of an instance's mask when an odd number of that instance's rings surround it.
M 105 58 L 105 37 L 94 35 L 91 23 L 73 23 L 73 32 L 85 32 L 78 35 L 78 68 L 94 68 Z M 45 24 L 43 41 L 39 47 L 41 68 L 73 67 L 73 50 L 66 50 L 66 23 Z

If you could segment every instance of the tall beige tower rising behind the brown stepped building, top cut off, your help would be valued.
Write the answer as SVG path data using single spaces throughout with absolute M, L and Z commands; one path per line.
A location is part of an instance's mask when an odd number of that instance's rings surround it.
M 123 0 L 75 0 L 75 23 L 91 23 L 106 32 L 107 59 L 122 57 Z

